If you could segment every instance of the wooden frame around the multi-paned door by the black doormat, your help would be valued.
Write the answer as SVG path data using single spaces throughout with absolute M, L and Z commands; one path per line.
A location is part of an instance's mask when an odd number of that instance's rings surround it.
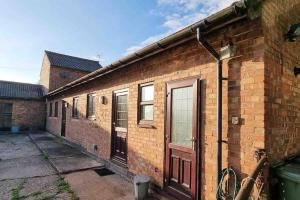
M 122 162 L 121 160 L 118 160 L 114 157 L 114 137 L 115 137 L 115 126 L 114 123 L 116 121 L 116 94 L 127 94 L 127 130 L 126 130 L 126 158 L 125 162 Z M 112 116 L 111 116 L 111 150 L 110 150 L 110 158 L 112 161 L 115 161 L 117 164 L 126 167 L 128 163 L 128 102 L 129 102 L 129 88 L 119 89 L 112 92 Z M 122 131 L 122 130 L 121 130 Z

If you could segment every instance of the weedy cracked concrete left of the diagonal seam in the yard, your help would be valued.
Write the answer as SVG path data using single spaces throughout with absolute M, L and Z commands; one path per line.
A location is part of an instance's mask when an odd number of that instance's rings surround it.
M 26 134 L 0 132 L 0 199 L 74 199 L 61 179 Z

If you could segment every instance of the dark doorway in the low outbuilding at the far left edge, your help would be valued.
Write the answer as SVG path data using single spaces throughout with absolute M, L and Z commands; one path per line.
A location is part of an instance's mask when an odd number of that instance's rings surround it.
M 12 104 L 0 103 L 0 131 L 9 131 L 12 121 Z

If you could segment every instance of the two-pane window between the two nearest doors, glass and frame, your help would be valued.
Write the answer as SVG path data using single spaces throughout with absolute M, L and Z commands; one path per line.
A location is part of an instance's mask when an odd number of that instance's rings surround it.
M 140 85 L 139 93 L 139 123 L 152 123 L 154 99 L 153 83 Z

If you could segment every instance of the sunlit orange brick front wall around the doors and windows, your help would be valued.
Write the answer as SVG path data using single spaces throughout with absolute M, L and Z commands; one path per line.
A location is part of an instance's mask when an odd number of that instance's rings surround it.
M 225 35 L 223 34 L 225 32 Z M 264 148 L 264 38 L 260 20 L 243 20 L 226 30 L 209 36 L 216 48 L 230 40 L 237 46 L 234 58 L 224 61 L 223 86 L 223 167 L 233 166 L 242 177 L 255 166 L 254 151 Z M 145 173 L 163 185 L 164 128 L 166 83 L 187 77 L 202 80 L 201 99 L 201 195 L 215 199 L 216 192 L 216 63 L 196 39 L 169 49 L 151 58 L 110 73 L 88 84 L 69 89 L 63 96 L 48 99 L 59 101 L 59 117 L 47 117 L 47 129 L 60 134 L 61 100 L 69 103 L 66 138 L 76 142 L 101 158 L 110 158 L 112 94 L 129 89 L 128 105 L 128 169 Z M 154 82 L 154 128 L 137 126 L 138 84 Z M 86 119 L 87 94 L 95 92 L 96 120 Z M 79 97 L 79 119 L 72 119 L 72 98 Z M 100 104 L 104 96 L 106 104 Z M 54 105 L 54 103 L 53 103 Z M 238 125 L 231 117 L 240 117 Z M 94 152 L 93 145 L 99 149 Z M 229 155 L 229 156 L 228 156 Z

